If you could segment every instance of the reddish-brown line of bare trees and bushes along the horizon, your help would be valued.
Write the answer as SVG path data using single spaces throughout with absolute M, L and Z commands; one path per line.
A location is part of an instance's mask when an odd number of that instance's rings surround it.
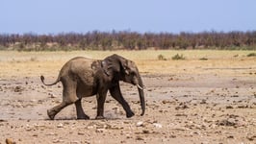
M 66 33 L 37 35 L 33 33 L 0 34 L 1 50 L 145 50 L 145 49 L 246 49 L 256 50 L 256 31 L 202 33 L 137 33 L 129 31 L 86 34 Z

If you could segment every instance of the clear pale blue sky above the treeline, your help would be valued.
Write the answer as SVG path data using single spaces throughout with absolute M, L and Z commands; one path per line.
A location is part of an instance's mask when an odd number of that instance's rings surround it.
M 256 0 L 1 0 L 0 34 L 255 31 Z

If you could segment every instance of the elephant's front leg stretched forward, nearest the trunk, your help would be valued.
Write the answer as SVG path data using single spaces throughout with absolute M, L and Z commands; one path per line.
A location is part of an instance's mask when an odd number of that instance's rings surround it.
M 112 87 L 110 89 L 111 95 L 113 96 L 113 98 L 122 105 L 122 108 L 125 110 L 126 112 L 126 117 L 130 118 L 132 116 L 134 116 L 134 112 L 132 111 L 132 109 L 130 108 L 129 104 L 124 100 L 121 91 L 120 91 L 120 87 L 119 84 L 117 84 L 115 87 Z

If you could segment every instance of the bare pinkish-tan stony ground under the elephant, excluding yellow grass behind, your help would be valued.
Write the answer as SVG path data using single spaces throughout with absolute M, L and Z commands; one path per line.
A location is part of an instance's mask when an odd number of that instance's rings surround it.
M 49 120 L 46 110 L 62 101 L 62 84 L 47 87 L 37 74 L 2 73 L 0 143 L 256 143 L 255 65 L 179 70 L 141 73 L 146 86 L 144 116 L 137 88 L 121 83 L 136 115 L 126 118 L 108 95 L 104 120 L 94 120 L 95 97 L 83 99 L 90 120 L 76 120 L 74 106 Z M 48 74 L 46 82 L 56 76 Z

